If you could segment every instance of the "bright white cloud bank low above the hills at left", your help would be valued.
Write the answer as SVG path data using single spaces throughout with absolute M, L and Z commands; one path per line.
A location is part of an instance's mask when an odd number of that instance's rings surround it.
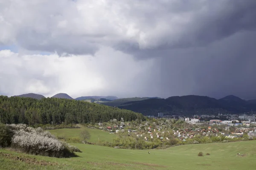
M 145 75 L 153 65 L 153 59 L 136 61 L 111 48 L 101 48 L 95 56 L 72 57 L 19 55 L 2 50 L 0 59 L 0 92 L 9 95 L 136 95 L 136 77 Z

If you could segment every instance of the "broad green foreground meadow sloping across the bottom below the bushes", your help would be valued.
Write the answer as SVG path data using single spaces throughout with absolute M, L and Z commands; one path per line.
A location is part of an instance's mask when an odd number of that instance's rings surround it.
M 192 144 L 164 150 L 125 150 L 88 144 L 73 145 L 79 147 L 83 153 L 77 153 L 79 157 L 69 159 L 33 156 L 0 149 L 0 169 L 255 170 L 256 167 L 256 141 Z M 198 156 L 200 151 L 204 156 Z M 210 155 L 206 156 L 206 153 Z M 238 157 L 237 153 L 245 156 Z

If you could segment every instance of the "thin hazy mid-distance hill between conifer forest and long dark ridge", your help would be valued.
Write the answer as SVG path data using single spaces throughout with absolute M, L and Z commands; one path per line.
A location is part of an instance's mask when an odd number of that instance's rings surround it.
M 132 98 L 123 98 L 116 99 L 111 102 L 105 102 L 103 105 L 107 106 L 121 106 L 121 105 L 130 105 L 130 102 L 142 101 L 147 99 L 160 99 L 159 97 L 132 97 Z

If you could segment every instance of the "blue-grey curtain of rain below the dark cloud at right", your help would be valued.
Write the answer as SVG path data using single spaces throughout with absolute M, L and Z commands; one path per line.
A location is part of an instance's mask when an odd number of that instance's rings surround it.
M 166 97 L 256 98 L 255 44 L 256 32 L 243 32 L 204 48 L 166 51 L 170 57 L 159 58 L 155 69 L 155 90 Z

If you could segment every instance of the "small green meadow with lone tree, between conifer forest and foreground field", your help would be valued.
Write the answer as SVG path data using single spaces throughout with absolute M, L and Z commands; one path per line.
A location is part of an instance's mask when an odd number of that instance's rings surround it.
M 87 127 L 75 128 L 75 129 L 55 129 L 55 130 L 49 130 L 49 132 L 55 136 L 64 136 L 65 138 L 80 138 L 81 139 L 80 133 L 84 129 L 88 130 L 88 132 L 91 135 L 88 142 L 96 143 L 96 142 L 98 142 L 98 140 L 113 142 L 113 139 L 116 137 L 115 134 L 110 134 L 104 130 L 90 129 Z

